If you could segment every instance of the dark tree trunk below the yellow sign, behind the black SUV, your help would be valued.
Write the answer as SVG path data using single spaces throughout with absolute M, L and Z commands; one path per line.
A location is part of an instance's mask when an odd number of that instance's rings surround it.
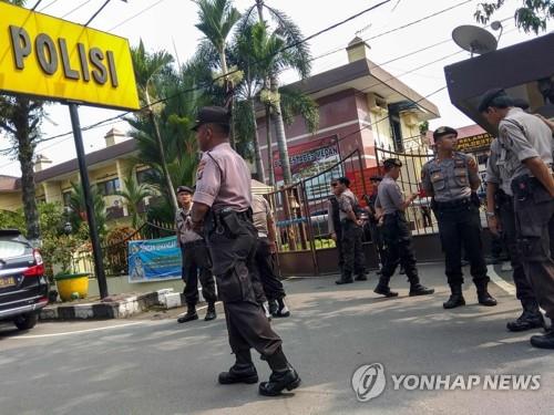
M 23 212 L 27 224 L 27 238 L 40 238 L 39 209 L 37 207 L 34 184 L 34 143 L 31 138 L 31 126 L 29 125 L 30 102 L 19 98 L 17 102 L 17 114 L 13 117 L 16 127 L 16 139 L 18 141 L 18 158 L 21 166 L 21 193 Z

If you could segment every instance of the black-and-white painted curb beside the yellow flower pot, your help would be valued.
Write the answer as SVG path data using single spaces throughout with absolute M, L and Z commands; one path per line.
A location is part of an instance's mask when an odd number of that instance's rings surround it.
M 152 291 L 140 295 L 114 295 L 89 304 L 47 305 L 40 320 L 105 320 L 126 319 L 157 305 L 174 309 L 184 303 L 182 294 L 173 289 Z

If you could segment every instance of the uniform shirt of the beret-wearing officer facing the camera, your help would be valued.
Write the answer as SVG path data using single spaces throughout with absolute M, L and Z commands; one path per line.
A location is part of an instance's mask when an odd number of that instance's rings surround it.
M 421 170 L 423 190 L 432 191 L 437 201 L 461 200 L 471 197 L 471 187 L 479 186 L 479 172 L 470 172 L 473 157 L 454 152 L 452 158 L 433 158 Z

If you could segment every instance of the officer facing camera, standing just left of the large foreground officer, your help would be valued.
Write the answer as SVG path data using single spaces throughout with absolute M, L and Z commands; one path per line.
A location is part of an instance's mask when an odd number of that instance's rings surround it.
M 202 284 L 202 294 L 208 303 L 205 321 L 214 320 L 215 312 L 215 280 L 212 274 L 212 264 L 206 241 L 192 230 L 191 211 L 193 208 L 192 196 L 194 190 L 188 186 L 177 187 L 177 199 L 181 209 L 175 215 L 175 229 L 177 230 L 177 243 L 181 247 L 183 261 L 182 277 L 185 281 L 186 314 L 179 317 L 177 322 L 198 320 L 196 304 L 198 302 L 198 278 Z

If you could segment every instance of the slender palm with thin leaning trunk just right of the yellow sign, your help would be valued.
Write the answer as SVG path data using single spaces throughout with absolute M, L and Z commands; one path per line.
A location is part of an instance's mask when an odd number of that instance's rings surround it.
M 163 74 L 164 71 L 170 70 L 173 56 L 165 51 L 155 53 L 146 52 L 142 40 L 137 48 L 131 49 L 131 56 L 133 59 L 138 96 L 142 103 L 146 104 L 147 116 L 153 127 L 153 135 L 157 146 L 156 153 L 160 155 L 160 167 L 163 174 L 162 177 L 165 180 L 167 196 L 173 208 L 177 210 L 177 197 L 175 196 L 173 181 L 167 169 L 164 143 L 155 114 L 156 111 L 160 111 L 161 105 L 156 105 L 156 107 L 152 105 L 152 96 L 156 96 L 156 77 Z

